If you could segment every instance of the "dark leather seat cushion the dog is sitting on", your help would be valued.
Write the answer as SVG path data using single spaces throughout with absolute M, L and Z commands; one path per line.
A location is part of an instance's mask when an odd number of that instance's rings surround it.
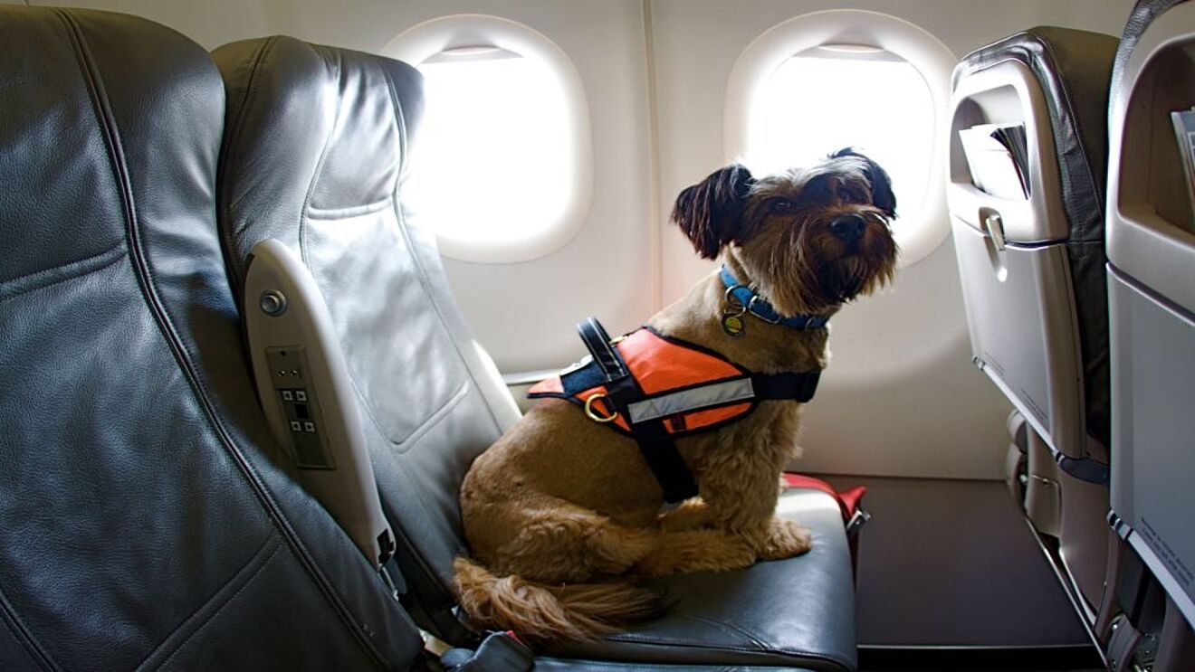
M 645 665 L 854 670 L 854 586 L 838 503 L 820 491 L 790 489 L 778 512 L 813 531 L 813 550 L 746 569 L 657 580 L 652 587 L 675 600 L 664 617 L 545 653 Z

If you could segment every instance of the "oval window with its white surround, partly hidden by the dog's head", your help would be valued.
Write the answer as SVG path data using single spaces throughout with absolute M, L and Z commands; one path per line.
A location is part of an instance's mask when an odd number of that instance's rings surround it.
M 957 58 L 899 17 L 826 10 L 758 36 L 727 82 L 725 152 L 753 171 L 804 165 L 856 147 L 893 178 L 900 266 L 950 234 L 944 161 Z

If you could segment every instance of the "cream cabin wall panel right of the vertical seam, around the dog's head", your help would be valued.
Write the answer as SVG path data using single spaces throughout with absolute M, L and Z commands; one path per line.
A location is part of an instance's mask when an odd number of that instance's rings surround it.
M 1017 30 L 1065 25 L 1120 35 L 1130 0 L 656 0 L 652 2 L 661 198 L 733 156 L 723 147 L 725 84 L 739 55 L 795 16 L 848 6 L 896 16 L 957 57 Z M 810 105 L 862 104 L 820 100 Z M 869 104 L 883 104 L 882 101 Z M 827 152 L 835 148 L 827 147 Z M 667 206 L 668 201 L 662 205 Z M 666 221 L 666 208 L 657 221 Z M 711 267 L 675 232 L 663 235 L 663 295 Z M 894 286 L 833 320 L 833 359 L 805 407 L 803 469 L 839 474 L 1003 477 L 1010 406 L 972 364 L 958 270 L 948 239 L 901 270 Z

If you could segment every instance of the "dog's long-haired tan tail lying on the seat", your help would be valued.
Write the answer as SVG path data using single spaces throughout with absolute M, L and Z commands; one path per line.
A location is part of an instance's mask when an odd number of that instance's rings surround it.
M 629 581 L 549 586 L 495 577 L 466 559 L 453 562 L 460 605 L 477 623 L 529 641 L 588 640 L 658 616 L 663 596 Z

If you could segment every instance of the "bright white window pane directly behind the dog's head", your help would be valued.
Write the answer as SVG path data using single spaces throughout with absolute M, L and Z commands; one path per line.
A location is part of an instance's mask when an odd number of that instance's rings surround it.
M 933 159 L 929 86 L 913 66 L 887 51 L 835 56 L 832 49 L 786 60 L 755 93 L 747 165 L 768 173 L 856 147 L 888 171 L 897 214 L 915 215 Z

